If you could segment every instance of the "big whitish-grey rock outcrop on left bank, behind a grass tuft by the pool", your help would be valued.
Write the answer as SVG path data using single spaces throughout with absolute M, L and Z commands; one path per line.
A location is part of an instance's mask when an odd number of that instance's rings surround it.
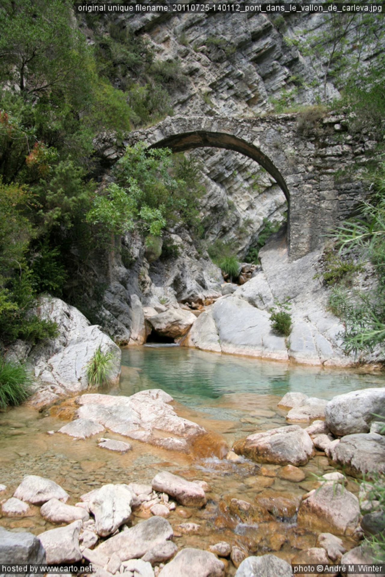
M 28 362 L 35 366 L 38 383 L 29 403 L 39 406 L 86 389 L 87 362 L 99 346 L 103 353 L 113 353 L 109 378 L 119 380 L 121 350 L 98 326 L 90 325 L 79 310 L 59 298 L 40 297 L 36 313 L 42 319 L 55 321 L 59 334 L 29 353 Z

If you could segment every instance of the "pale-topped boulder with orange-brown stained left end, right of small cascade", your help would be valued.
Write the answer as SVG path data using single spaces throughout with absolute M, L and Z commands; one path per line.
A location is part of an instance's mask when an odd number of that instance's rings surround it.
M 241 439 L 234 451 L 261 463 L 304 465 L 314 454 L 313 442 L 299 425 L 255 433 Z

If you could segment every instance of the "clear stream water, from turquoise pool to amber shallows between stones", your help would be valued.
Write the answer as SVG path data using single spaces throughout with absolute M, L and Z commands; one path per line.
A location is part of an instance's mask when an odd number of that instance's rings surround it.
M 194 455 L 179 454 L 131 441 L 133 450 L 125 455 L 101 449 L 96 437 L 73 440 L 66 435 L 47 434 L 69 421 L 73 399 L 50 411 L 18 407 L 0 413 L 0 483 L 8 486 L 0 501 L 12 496 L 24 474 L 37 474 L 58 482 L 69 494 L 69 504 L 79 501 L 91 488 L 113 483 L 151 482 L 160 470 L 183 477 L 203 479 L 211 487 L 204 509 L 177 507 L 169 521 L 178 547 L 206 549 L 218 541 L 246 548 L 250 553 L 274 552 L 286 560 L 301 549 L 315 546 L 316 534 L 296 524 L 296 507 L 301 496 L 316 486 L 315 475 L 333 470 L 326 456 L 318 452 L 302 467 L 304 481 L 279 478 L 281 467 L 261 468 L 249 460 L 231 463 L 223 458 L 223 445 L 231 448 L 240 437 L 285 425 L 285 411 L 277 404 L 288 391 L 331 399 L 333 396 L 367 387 L 385 386 L 383 374 L 353 370 L 322 369 L 259 361 L 177 346 L 130 347 L 122 351 L 122 376 L 118 387 L 102 392 L 132 395 L 148 388 L 162 388 L 175 399 L 175 410 L 183 417 L 212 432 L 210 446 L 197 446 Z M 304 425 L 306 426 L 306 425 Z M 121 439 L 118 434 L 108 434 Z M 349 479 L 347 489 L 357 493 Z M 250 519 L 229 507 L 231 498 L 274 503 L 268 519 Z M 197 534 L 182 534 L 178 524 L 200 524 Z M 0 525 L 35 534 L 53 528 L 32 507 L 25 518 L 0 518 Z M 352 542 L 347 542 L 348 548 Z M 231 562 L 227 575 L 236 569 Z

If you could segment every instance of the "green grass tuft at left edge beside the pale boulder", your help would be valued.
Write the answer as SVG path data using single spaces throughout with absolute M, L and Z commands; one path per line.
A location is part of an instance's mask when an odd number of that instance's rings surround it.
M 0 408 L 23 403 L 30 395 L 32 377 L 24 365 L 0 359 Z

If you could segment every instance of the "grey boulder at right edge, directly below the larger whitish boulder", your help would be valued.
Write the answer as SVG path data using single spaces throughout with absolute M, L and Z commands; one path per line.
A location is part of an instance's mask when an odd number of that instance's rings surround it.
M 352 477 L 385 473 L 385 437 L 377 433 L 349 434 L 326 449 L 331 463 Z

